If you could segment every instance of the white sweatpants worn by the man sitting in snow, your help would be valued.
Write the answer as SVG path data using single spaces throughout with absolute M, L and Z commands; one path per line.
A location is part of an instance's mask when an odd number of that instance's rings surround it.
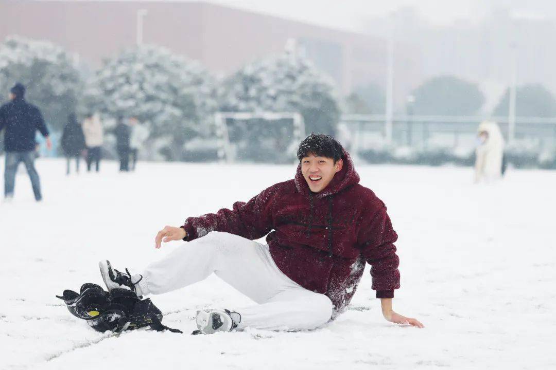
M 330 299 L 284 275 L 272 260 L 269 246 L 226 232 L 212 231 L 187 242 L 148 265 L 132 281 L 142 275 L 138 293 L 161 294 L 204 280 L 213 272 L 259 303 L 234 310 L 241 314 L 239 328 L 307 330 L 323 325 L 332 315 Z

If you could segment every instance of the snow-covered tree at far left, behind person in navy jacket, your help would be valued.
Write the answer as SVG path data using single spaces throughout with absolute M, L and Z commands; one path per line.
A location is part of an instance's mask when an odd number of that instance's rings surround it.
M 83 90 L 76 58 L 50 42 L 8 37 L 0 44 L 0 101 L 16 82 L 25 85 L 27 100 L 41 109 L 47 125 L 61 130 L 75 112 Z

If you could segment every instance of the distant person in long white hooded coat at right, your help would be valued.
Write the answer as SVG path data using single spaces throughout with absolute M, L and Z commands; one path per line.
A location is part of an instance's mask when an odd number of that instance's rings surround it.
M 504 138 L 497 123 L 493 121 L 480 123 L 475 154 L 475 183 L 502 178 Z

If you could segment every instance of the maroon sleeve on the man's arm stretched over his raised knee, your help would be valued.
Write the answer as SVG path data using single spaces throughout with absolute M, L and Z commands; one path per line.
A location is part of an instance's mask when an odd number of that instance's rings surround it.
M 265 189 L 247 203 L 235 202 L 232 209 L 223 208 L 216 214 L 188 217 L 181 226 L 187 231 L 185 241 L 205 236 L 211 231 L 229 232 L 250 240 L 259 239 L 272 230 L 273 187 Z

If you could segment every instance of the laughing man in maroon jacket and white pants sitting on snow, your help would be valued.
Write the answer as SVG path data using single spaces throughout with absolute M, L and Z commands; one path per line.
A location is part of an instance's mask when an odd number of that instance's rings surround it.
M 188 243 L 142 273 L 121 273 L 101 261 L 108 290 L 161 294 L 214 272 L 258 305 L 198 311 L 200 332 L 308 330 L 346 309 L 368 262 L 384 318 L 423 327 L 392 310 L 394 290 L 400 287 L 393 244 L 398 236 L 384 203 L 359 185 L 350 155 L 330 136 L 311 134 L 297 157 L 294 179 L 272 185 L 247 203 L 236 202 L 232 210 L 189 217 L 181 227 L 159 231 L 156 248 L 172 240 Z M 265 235 L 266 245 L 254 241 Z

